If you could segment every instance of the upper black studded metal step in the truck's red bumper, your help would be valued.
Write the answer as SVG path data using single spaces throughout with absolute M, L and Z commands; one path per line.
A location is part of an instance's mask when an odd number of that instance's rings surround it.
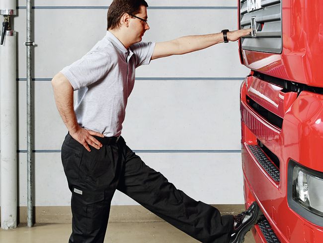
M 257 159 L 258 163 L 267 171 L 267 173 L 271 176 L 271 178 L 279 182 L 280 181 L 280 173 L 277 167 L 268 159 L 266 154 L 260 149 L 258 145 L 247 145 L 250 149 L 251 153 Z

